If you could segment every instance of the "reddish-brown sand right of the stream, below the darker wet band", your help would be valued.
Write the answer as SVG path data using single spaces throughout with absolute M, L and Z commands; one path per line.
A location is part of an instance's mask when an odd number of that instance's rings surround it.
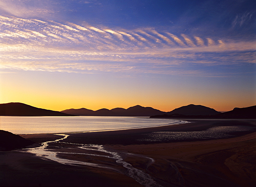
M 154 166 L 148 170 L 164 186 L 253 187 L 255 140 L 252 132 L 228 139 L 106 147 L 153 158 Z M 126 161 L 138 167 L 143 162 L 131 156 Z

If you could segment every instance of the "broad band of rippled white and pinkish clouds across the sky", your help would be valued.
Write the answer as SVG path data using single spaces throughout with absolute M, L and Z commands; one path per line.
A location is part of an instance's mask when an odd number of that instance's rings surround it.
M 0 16 L 0 51 L 0 68 L 32 71 L 223 76 L 188 66 L 255 63 L 253 42 L 5 16 Z

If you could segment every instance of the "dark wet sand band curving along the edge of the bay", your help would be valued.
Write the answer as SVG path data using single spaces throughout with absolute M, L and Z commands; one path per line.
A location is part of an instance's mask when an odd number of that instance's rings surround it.
M 110 131 L 93 131 L 93 132 L 69 132 L 69 133 L 38 133 L 38 134 L 19 134 L 23 138 L 32 140 L 37 143 L 42 143 L 47 140 L 52 141 L 58 139 L 59 135 L 56 134 L 67 134 L 69 135 L 68 139 L 65 141 L 71 141 L 71 143 L 79 143 L 81 137 L 83 137 L 83 144 L 119 144 L 129 145 L 129 144 L 152 144 L 152 143 L 168 143 L 168 142 L 180 142 L 180 141 L 205 141 L 207 139 L 186 139 L 186 140 L 170 140 L 162 142 L 145 142 L 145 141 L 136 141 L 142 136 L 147 137 L 152 132 L 193 132 L 193 131 L 205 131 L 212 127 L 222 127 L 222 126 L 252 126 L 256 127 L 255 120 L 196 120 L 190 119 L 188 122 L 191 123 L 182 123 L 175 125 L 164 125 L 157 127 L 147 127 L 147 128 L 134 128 L 134 129 L 125 129 L 125 130 L 110 130 Z M 248 132 L 234 132 L 233 137 L 243 136 Z M 223 137 L 218 139 L 227 139 L 229 137 Z M 230 137 L 232 138 L 232 137 Z M 215 139 L 215 138 L 212 138 Z

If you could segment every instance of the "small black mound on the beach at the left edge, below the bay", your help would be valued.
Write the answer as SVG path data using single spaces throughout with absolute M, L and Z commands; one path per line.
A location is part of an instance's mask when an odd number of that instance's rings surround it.
M 33 143 L 35 142 L 27 140 L 19 135 L 15 135 L 5 130 L 0 130 L 0 151 L 22 149 L 26 148 L 28 145 L 32 145 Z

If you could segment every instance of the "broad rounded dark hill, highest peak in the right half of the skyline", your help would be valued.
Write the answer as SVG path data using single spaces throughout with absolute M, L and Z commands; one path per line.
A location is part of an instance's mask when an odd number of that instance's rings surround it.
M 194 105 L 189 104 L 187 106 L 182 106 L 180 108 L 174 109 L 170 112 L 167 112 L 166 114 L 182 114 L 182 115 L 215 115 L 220 114 L 221 112 L 218 112 L 214 109 L 211 109 L 206 106 L 202 105 Z

